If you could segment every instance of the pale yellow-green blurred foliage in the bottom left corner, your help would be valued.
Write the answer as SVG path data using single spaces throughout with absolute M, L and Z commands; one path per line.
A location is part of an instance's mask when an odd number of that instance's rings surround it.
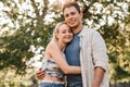
M 0 71 L 0 87 L 38 87 L 34 70 L 27 70 L 26 75 L 16 75 L 10 67 Z

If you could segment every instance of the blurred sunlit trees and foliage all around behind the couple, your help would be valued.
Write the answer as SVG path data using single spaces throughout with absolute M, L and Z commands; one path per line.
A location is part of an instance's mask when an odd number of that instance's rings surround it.
M 110 87 L 130 87 L 130 0 L 0 0 L 0 87 L 38 87 L 36 71 L 67 1 L 103 36 Z

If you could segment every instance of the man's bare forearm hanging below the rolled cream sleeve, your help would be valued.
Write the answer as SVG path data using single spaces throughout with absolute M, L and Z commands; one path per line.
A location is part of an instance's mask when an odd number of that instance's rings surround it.
M 101 66 L 96 66 L 94 69 L 94 79 L 93 79 L 92 87 L 100 87 L 102 79 L 104 77 L 104 73 L 105 71 Z

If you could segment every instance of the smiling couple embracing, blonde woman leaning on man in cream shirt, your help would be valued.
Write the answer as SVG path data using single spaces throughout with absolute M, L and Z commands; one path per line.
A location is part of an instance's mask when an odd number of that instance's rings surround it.
M 43 70 L 37 72 L 40 87 L 109 87 L 108 58 L 102 36 L 82 25 L 75 2 L 64 4 L 65 23 L 58 23 L 46 48 Z

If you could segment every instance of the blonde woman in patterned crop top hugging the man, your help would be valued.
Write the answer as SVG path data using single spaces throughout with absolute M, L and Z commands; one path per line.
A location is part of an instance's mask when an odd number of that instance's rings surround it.
M 64 74 L 80 74 L 80 66 L 68 65 L 64 49 L 73 39 L 72 29 L 65 23 L 58 23 L 53 32 L 53 38 L 44 52 L 43 69 L 47 75 L 40 87 L 64 87 Z

